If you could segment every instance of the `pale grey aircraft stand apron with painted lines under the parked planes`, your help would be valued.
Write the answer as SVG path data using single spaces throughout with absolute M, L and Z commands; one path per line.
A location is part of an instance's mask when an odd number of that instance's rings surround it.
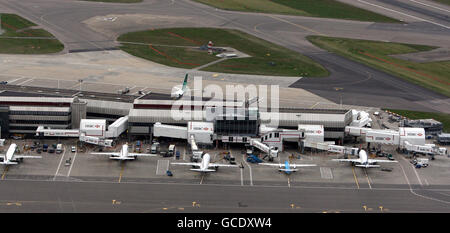
M 36 149 L 24 151 L 24 145 L 32 145 L 39 141 L 53 145 L 61 143 L 61 153 L 41 152 Z M 191 155 L 186 144 L 177 143 L 176 156 L 138 157 L 136 160 L 120 162 L 109 159 L 108 155 L 93 155 L 91 152 L 99 148 L 93 145 L 80 145 L 76 140 L 9 140 L 2 148 L 3 153 L 11 143 L 16 143 L 21 154 L 41 155 L 41 159 L 24 159 L 18 165 L 2 167 L 1 179 L 27 179 L 48 181 L 102 181 L 102 182 L 147 182 L 147 183 L 184 183 L 214 184 L 236 186 L 279 186 L 279 187 L 346 187 L 355 189 L 373 189 L 396 187 L 398 185 L 446 185 L 450 177 L 450 158 L 437 156 L 430 160 L 427 168 L 416 169 L 404 154 L 391 148 L 383 148 L 391 152 L 398 163 L 381 164 L 381 168 L 362 169 L 350 163 L 331 161 L 341 158 L 327 152 L 307 151 L 300 154 L 298 149 L 291 148 L 279 154 L 273 163 L 316 164 L 316 167 L 300 168 L 299 171 L 287 175 L 279 172 L 277 166 L 263 166 L 246 160 L 245 150 L 240 147 L 225 149 L 204 149 L 211 155 L 213 163 L 229 163 L 224 159 L 224 152 L 230 152 L 239 167 L 221 167 L 216 172 L 199 173 L 191 171 L 191 166 L 172 164 L 173 162 L 190 162 Z M 72 147 L 76 151 L 72 152 Z M 130 142 L 130 150 L 135 151 L 136 142 Z M 142 153 L 150 152 L 150 144 L 142 144 Z M 121 144 L 113 148 L 105 148 L 103 152 L 118 152 Z M 390 151 L 392 150 L 392 151 Z M 268 161 L 264 161 L 268 162 Z M 172 176 L 166 174 L 170 170 Z

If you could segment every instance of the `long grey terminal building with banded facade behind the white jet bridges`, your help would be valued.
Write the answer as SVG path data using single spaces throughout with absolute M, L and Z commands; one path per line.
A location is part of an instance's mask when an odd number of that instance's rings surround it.
M 213 122 L 215 133 L 231 140 L 233 137 L 257 136 L 261 125 L 297 130 L 299 124 L 309 124 L 323 125 L 326 139 L 342 140 L 345 126 L 353 120 L 351 110 L 344 109 L 281 108 L 271 112 L 270 109 L 248 108 L 238 101 L 191 100 L 179 107 L 181 115 L 174 116 L 171 110 L 177 100 L 166 94 L 124 97 L 71 91 L 49 94 L 4 90 L 0 93 L 0 123 L 1 128 L 9 129 L 11 134 L 35 134 L 39 125 L 77 129 L 81 119 L 104 119 L 110 125 L 120 117 L 128 116 L 129 137 L 150 137 L 156 122 L 186 126 L 190 121 L 202 121 Z M 217 112 L 211 107 L 214 103 L 223 106 L 220 109 L 222 115 L 214 113 Z M 234 109 L 234 115 L 224 117 L 225 109 Z M 278 125 L 271 125 L 274 117 L 279 119 Z

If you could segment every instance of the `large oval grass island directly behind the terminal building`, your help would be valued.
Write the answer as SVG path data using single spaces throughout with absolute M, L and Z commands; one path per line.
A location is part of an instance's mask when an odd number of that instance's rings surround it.
M 232 47 L 251 57 L 227 59 L 204 68 L 203 70 L 206 71 L 305 77 L 329 75 L 328 71 L 320 64 L 297 52 L 237 30 L 214 28 L 159 29 L 127 33 L 121 35 L 117 40 L 145 43 L 144 45 L 122 43 L 121 48 L 132 55 L 168 66 L 194 68 L 218 59 L 216 56 L 208 55 L 205 50 L 197 49 L 211 40 L 214 46 Z M 153 45 L 150 47 L 148 44 Z

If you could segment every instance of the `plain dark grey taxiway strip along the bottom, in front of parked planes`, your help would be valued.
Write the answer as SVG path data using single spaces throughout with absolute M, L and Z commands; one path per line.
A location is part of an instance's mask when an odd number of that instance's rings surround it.
M 0 182 L 0 212 L 448 212 L 407 188 Z M 417 193 L 439 195 L 434 191 Z M 442 192 L 442 191 L 441 191 Z M 444 191 L 445 192 L 445 191 Z M 448 189 L 447 189 L 448 192 Z M 274 195 L 276 194 L 276 195 Z M 443 195 L 441 195 L 443 196 Z M 442 198 L 442 197 L 441 197 Z M 447 197 L 448 199 L 448 197 Z

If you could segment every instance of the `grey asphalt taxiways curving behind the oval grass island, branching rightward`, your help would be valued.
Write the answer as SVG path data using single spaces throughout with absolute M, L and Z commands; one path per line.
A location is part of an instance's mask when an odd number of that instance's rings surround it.
M 445 27 L 450 25 L 444 13 L 436 13 L 436 9 L 432 11 L 428 9 L 429 7 L 411 1 L 369 2 L 384 4 L 383 7 L 389 7 L 386 6 L 386 2 L 389 2 L 388 4 L 394 5 L 392 7 L 395 7 L 395 11 L 407 12 L 405 15 L 397 14 L 398 17 L 406 17 L 411 22 L 408 25 L 382 24 L 230 12 L 187 0 L 147 0 L 139 4 L 104 4 L 69 0 L 26 2 L 1 0 L 0 6 L 5 9 L 4 11 L 18 13 L 42 25 L 66 45 L 65 51 L 71 52 L 112 49 L 117 45 L 115 38 L 121 33 L 148 28 L 175 26 L 236 28 L 306 54 L 331 71 L 331 75 L 327 78 L 301 79 L 292 87 L 304 88 L 339 103 L 341 94 L 333 91 L 334 87 L 331 87 L 330 83 L 333 83 L 333 86 L 340 84 L 346 86 L 340 89 L 340 92 L 343 93 L 344 103 L 449 112 L 450 101 L 447 97 L 407 82 L 398 81 L 398 78 L 392 75 L 374 71 L 365 65 L 351 62 L 343 57 L 323 52 L 304 39 L 306 35 L 322 34 L 450 47 L 450 30 Z M 358 4 L 363 3 L 358 1 Z M 377 11 L 384 10 L 366 3 L 363 5 Z M 392 14 L 389 10 L 384 11 L 388 15 Z M 155 20 L 151 25 L 123 25 L 112 34 L 95 31 L 83 23 L 84 20 L 96 16 L 137 13 L 173 17 L 173 19 Z M 421 20 L 424 14 L 427 16 L 424 19 L 426 21 Z M 434 21 L 444 27 L 433 24 Z M 430 30 L 430 28 L 434 29 Z M 357 80 L 364 80 L 368 73 L 373 73 L 370 82 L 348 85 Z M 420 103 L 414 101 L 420 101 Z M 443 104 L 436 105 L 436 102 Z

